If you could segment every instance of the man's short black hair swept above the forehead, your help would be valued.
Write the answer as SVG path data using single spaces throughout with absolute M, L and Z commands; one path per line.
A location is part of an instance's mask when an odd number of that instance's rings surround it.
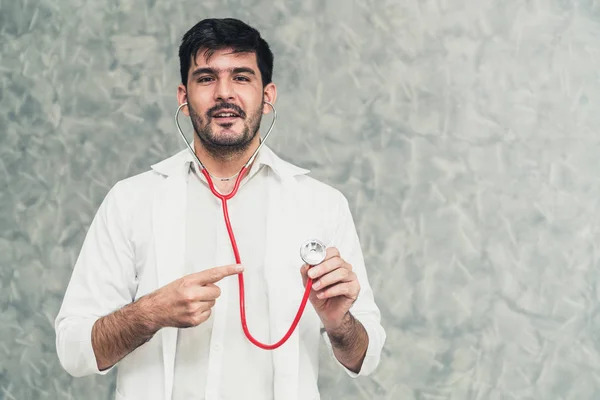
M 255 53 L 263 87 L 271 83 L 273 76 L 273 53 L 260 33 L 235 18 L 203 19 L 183 35 L 179 46 L 181 83 L 187 87 L 192 60 L 198 51 L 206 51 L 211 57 L 215 50 L 233 49 L 234 53 Z

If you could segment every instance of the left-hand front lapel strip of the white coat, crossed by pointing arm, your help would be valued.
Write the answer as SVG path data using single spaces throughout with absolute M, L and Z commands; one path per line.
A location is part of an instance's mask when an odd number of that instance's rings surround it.
M 152 218 L 158 287 L 184 274 L 186 186 L 182 174 L 172 174 L 165 179 L 154 198 Z M 160 332 L 163 340 L 164 398 L 171 399 L 178 330 L 163 328 Z

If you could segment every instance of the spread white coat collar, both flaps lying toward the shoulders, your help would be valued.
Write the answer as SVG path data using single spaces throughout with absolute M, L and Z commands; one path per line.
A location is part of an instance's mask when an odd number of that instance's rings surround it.
M 189 165 L 193 162 L 196 162 L 194 156 L 188 149 L 185 149 L 166 160 L 152 165 L 152 169 L 162 175 L 169 176 L 176 171 L 189 171 Z M 304 175 L 309 172 L 307 169 L 297 167 L 282 160 L 266 145 L 258 152 L 252 168 L 255 168 L 255 166 L 260 167 L 261 165 L 269 166 L 281 179 Z

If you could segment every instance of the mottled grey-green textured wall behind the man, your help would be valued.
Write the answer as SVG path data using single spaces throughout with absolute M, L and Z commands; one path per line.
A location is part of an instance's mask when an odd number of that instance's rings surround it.
M 53 319 L 109 187 L 180 148 L 181 35 L 276 55 L 271 146 L 340 188 L 388 342 L 323 398 L 600 398 L 600 3 L 0 0 L 0 399 L 108 399 Z

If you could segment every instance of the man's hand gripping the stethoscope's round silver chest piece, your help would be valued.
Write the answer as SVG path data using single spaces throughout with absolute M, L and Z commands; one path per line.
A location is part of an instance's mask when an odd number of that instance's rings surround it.
M 325 329 L 330 332 L 339 328 L 360 292 L 360 284 L 352 271 L 352 265 L 340 257 L 340 252 L 335 247 L 329 247 L 322 263 L 313 267 L 304 264 L 300 273 L 304 286 L 308 277 L 313 279 L 309 300 Z

